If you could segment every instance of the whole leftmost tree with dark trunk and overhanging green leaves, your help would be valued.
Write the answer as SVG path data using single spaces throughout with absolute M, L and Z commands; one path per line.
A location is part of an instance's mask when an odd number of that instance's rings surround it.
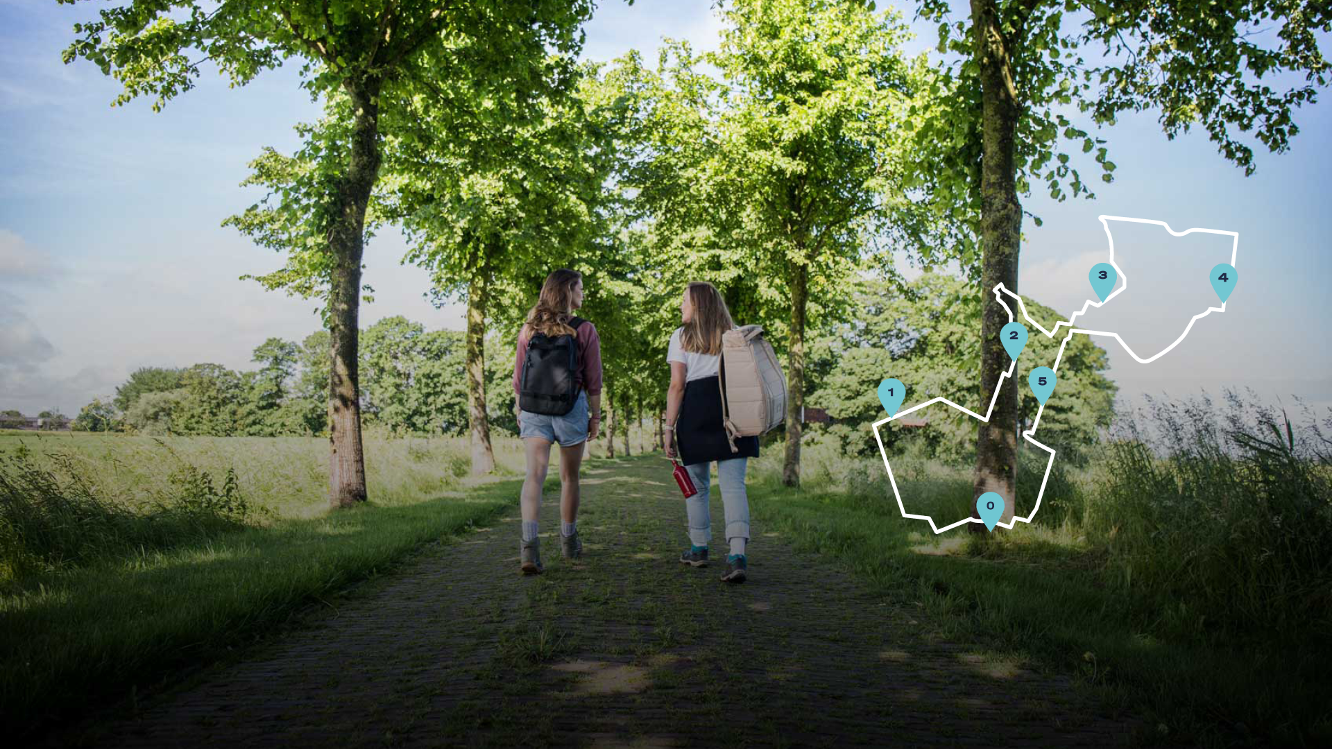
M 75 0 L 60 0 L 73 3 Z M 585 0 L 135 0 L 77 24 L 65 61 L 84 57 L 124 85 L 123 104 L 155 96 L 153 108 L 188 91 L 209 60 L 233 85 L 285 59 L 302 61 L 302 85 L 345 108 L 345 128 L 308 143 L 314 168 L 306 191 L 284 191 L 278 205 L 252 209 L 237 225 L 261 244 L 288 252 L 286 268 L 261 277 L 269 288 L 318 293 L 326 303 L 329 378 L 329 501 L 366 498 L 357 389 L 357 316 L 366 208 L 381 163 L 381 120 L 404 101 L 428 95 L 426 75 L 453 71 L 478 91 L 546 84 L 547 49 L 573 52 Z M 285 185 L 284 185 L 285 187 Z M 296 216 L 293 219 L 293 216 Z

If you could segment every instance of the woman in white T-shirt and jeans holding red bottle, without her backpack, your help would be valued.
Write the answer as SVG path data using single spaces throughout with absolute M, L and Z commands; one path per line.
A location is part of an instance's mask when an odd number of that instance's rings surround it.
M 666 456 L 689 470 L 698 492 L 685 500 L 689 514 L 690 549 L 679 561 L 707 565 L 707 544 L 713 537 L 707 508 L 709 469 L 717 461 L 717 477 L 726 506 L 726 573 L 722 580 L 743 582 L 747 574 L 745 545 L 749 542 L 749 497 L 745 492 L 747 458 L 758 457 L 758 437 L 735 440 L 731 452 L 722 426 L 721 353 L 722 333 L 735 328 L 726 300 L 713 284 L 694 281 L 679 303 L 679 328 L 671 333 L 666 361 L 670 363 L 670 389 L 666 392 L 666 429 L 671 438 Z

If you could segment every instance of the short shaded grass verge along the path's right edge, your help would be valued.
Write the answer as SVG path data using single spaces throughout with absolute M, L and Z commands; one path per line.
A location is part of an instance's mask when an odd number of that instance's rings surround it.
M 943 614 L 944 636 L 968 638 L 1080 674 L 1112 705 L 1146 713 L 1144 741 L 1320 745 L 1332 740 L 1332 648 L 1319 641 L 1215 641 L 1162 633 L 1173 605 L 1106 585 L 1087 546 L 1024 528 L 998 545 L 950 533 L 942 546 L 882 502 L 835 489 L 753 490 L 755 520 L 789 533 L 888 598 Z

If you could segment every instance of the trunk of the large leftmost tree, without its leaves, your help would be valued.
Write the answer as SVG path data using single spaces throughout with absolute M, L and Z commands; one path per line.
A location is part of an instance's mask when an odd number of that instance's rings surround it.
M 329 284 L 329 505 L 350 506 L 366 498 L 361 445 L 360 349 L 361 255 L 365 208 L 380 175 L 380 79 L 344 84 L 350 95 L 352 160 L 334 196 L 329 227 L 333 272 Z

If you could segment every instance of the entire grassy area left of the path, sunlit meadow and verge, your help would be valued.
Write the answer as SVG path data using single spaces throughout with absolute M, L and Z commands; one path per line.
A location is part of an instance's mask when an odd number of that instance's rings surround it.
M 48 505 L 75 497 L 85 509 L 55 517 L 76 522 L 79 538 L 109 536 L 96 553 L 43 557 L 48 564 L 27 565 L 23 574 L 11 565 L 0 581 L 4 714 L 49 724 L 89 700 L 117 698 L 205 665 L 390 569 L 422 544 L 466 532 L 517 502 L 515 440 L 497 444 L 507 477 L 484 484 L 461 478 L 469 465 L 465 441 L 368 440 L 370 502 L 328 513 L 326 449 L 314 438 L 0 436 L 7 522 L 20 496 L 36 493 Z M 25 484 L 24 466 L 48 484 Z M 216 517 L 198 500 L 200 476 L 220 494 L 228 469 L 232 506 L 245 508 L 240 521 L 234 513 Z M 115 514 L 121 505 L 133 514 Z M 184 524 L 182 517 L 200 516 L 216 522 Z M 112 542 L 135 533 L 152 541 L 152 529 L 164 524 L 172 534 L 197 533 L 156 546 Z M 5 552 L 15 552 L 13 544 Z

